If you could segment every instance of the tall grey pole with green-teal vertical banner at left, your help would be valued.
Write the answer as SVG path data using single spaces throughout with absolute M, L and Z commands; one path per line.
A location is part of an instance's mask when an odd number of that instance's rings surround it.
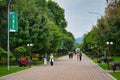
M 8 70 L 10 70 L 10 44 L 9 33 L 18 31 L 18 14 L 16 12 L 10 12 L 10 2 L 8 3 L 8 41 L 7 41 L 7 58 L 8 58 Z

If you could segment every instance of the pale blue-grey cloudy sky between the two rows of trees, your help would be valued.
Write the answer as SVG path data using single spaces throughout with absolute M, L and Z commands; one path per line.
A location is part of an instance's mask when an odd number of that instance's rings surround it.
M 65 10 L 67 31 L 75 38 L 90 32 L 97 19 L 105 14 L 106 0 L 54 0 Z

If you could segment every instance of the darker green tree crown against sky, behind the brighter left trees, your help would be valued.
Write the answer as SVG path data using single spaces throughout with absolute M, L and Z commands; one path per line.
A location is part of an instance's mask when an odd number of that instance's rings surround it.
M 48 8 L 53 14 L 50 18 L 61 28 L 66 28 L 67 22 L 64 18 L 64 9 L 62 9 L 56 2 L 48 1 Z

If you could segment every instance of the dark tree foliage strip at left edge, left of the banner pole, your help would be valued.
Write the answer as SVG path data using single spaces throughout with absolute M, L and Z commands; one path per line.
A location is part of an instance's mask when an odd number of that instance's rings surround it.
M 7 50 L 7 1 L 0 1 L 0 47 Z

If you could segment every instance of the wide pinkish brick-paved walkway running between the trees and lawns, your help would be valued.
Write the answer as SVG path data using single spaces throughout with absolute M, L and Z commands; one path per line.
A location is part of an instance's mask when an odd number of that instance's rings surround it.
M 13 73 L 0 80 L 115 80 L 85 55 L 82 61 L 68 56 L 55 61 L 54 66 L 32 66 L 30 69 Z

